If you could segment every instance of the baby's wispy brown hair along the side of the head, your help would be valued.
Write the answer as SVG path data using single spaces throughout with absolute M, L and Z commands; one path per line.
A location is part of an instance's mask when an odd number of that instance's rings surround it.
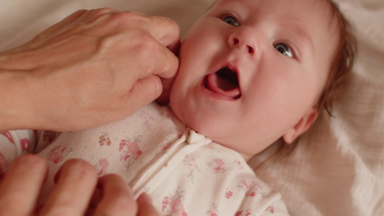
M 316 106 L 319 113 L 325 110 L 329 116 L 334 117 L 332 115 L 333 102 L 344 91 L 351 77 L 357 42 L 352 33 L 351 24 L 340 12 L 338 5 L 331 0 L 327 1 L 329 2 L 331 10 L 331 22 L 334 18 L 337 20 L 339 42 L 331 63 L 328 79 Z

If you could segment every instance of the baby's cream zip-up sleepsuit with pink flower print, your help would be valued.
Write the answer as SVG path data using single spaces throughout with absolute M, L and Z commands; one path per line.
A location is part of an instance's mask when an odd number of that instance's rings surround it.
M 46 145 L 36 143 L 36 148 Z M 135 198 L 149 194 L 161 215 L 288 215 L 281 195 L 258 179 L 239 153 L 186 128 L 156 103 L 115 123 L 61 133 L 39 154 L 50 166 L 43 200 L 64 161 L 82 158 L 99 176 L 122 176 Z

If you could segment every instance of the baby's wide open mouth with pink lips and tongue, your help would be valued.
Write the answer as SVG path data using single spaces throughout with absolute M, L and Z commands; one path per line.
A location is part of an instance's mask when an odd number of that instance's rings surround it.
M 228 67 L 221 68 L 216 73 L 212 73 L 205 78 L 205 88 L 217 94 L 238 99 L 241 96 L 237 71 Z

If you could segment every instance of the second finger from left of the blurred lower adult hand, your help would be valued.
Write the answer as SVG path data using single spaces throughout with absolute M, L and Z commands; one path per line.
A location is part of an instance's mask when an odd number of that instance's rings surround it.
M 57 184 L 40 215 L 83 216 L 97 183 L 93 166 L 71 159 L 61 166 L 55 177 Z

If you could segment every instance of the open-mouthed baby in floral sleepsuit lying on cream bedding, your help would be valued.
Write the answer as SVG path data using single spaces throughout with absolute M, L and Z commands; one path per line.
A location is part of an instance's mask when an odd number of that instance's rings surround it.
M 219 0 L 182 43 L 170 107 L 151 103 L 54 141 L 41 134 L 35 152 L 51 161 L 43 199 L 61 164 L 83 158 L 99 175 L 121 175 L 134 196 L 148 193 L 161 215 L 288 215 L 247 160 L 330 111 L 353 61 L 351 38 L 327 0 Z M 15 143 L 14 133 L 3 135 Z

